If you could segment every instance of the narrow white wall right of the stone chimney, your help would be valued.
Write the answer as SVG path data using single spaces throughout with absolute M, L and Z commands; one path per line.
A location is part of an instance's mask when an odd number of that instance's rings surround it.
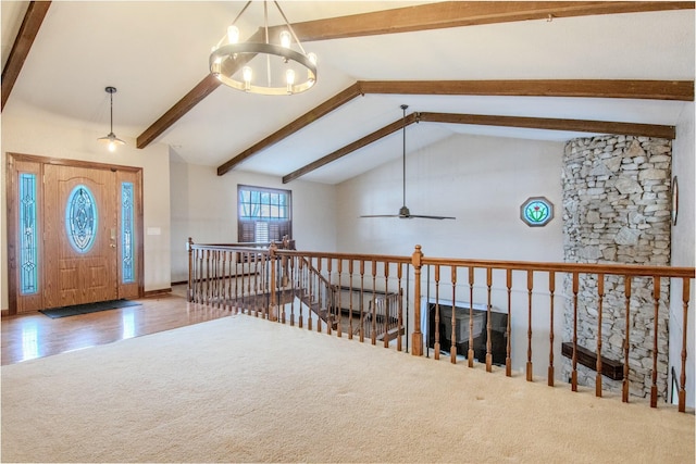
M 696 184 L 694 163 L 694 103 L 685 103 L 684 110 L 676 124 L 676 138 L 672 145 L 672 175 L 679 181 L 679 215 L 676 225 L 672 226 L 672 266 L 693 267 L 696 264 L 694 242 L 696 241 Z M 672 294 L 670 297 L 670 381 L 672 379 L 672 367 L 676 372 L 676 378 L 681 375 L 682 365 L 682 337 L 684 334 L 683 306 L 682 306 L 682 285 L 678 280 L 672 280 Z M 686 404 L 694 407 L 694 365 L 696 351 L 694 350 L 694 333 L 696 331 L 696 300 L 694 300 L 694 281 L 692 280 L 689 309 L 687 319 L 687 352 L 686 359 Z

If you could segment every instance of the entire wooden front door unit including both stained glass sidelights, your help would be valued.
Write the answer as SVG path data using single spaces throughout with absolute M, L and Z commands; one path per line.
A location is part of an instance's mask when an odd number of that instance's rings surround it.
M 10 314 L 142 296 L 141 178 L 8 153 Z

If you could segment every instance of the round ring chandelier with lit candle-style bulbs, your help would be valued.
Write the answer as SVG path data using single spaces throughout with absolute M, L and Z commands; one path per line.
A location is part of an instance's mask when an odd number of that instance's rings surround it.
M 235 24 L 250 3 L 245 4 L 227 27 L 227 34 L 213 47 L 209 60 L 211 74 L 221 83 L 250 93 L 293 95 L 310 89 L 316 83 L 316 55 L 304 51 L 277 1 L 273 3 L 285 21 L 277 43 L 269 38 L 268 1 L 263 2 L 263 27 L 247 41 L 239 41 Z

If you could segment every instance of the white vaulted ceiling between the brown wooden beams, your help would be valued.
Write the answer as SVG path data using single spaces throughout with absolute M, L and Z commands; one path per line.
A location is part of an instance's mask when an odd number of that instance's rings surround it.
M 79 125 L 103 136 L 114 86 L 114 131 L 135 139 L 209 73 L 208 57 L 244 2 L 53 1 L 3 115 Z M 259 2 L 260 3 L 260 2 Z M 424 2 L 285 1 L 290 22 Z M 2 1 L 2 65 L 27 2 Z M 271 5 L 269 7 L 272 8 Z M 251 4 L 243 16 L 262 14 Z M 271 17 L 271 21 L 273 17 Z M 262 24 L 262 20 L 253 20 Z M 253 23 L 251 21 L 251 23 Z M 276 22 L 277 24 L 277 22 Z M 220 166 L 356 80 L 694 79 L 694 10 L 525 21 L 306 42 L 318 84 L 291 97 L 221 86 L 156 141 L 182 160 Z M 244 25 L 243 25 L 244 27 Z M 243 28 L 244 34 L 244 28 Z M 684 102 L 542 97 L 366 95 L 248 159 L 237 170 L 287 175 L 401 116 L 448 112 L 674 125 Z M 408 149 L 453 134 L 568 140 L 577 133 L 420 123 Z M 103 133 L 103 134 L 102 134 Z M 388 136 L 302 177 L 336 184 L 401 155 Z

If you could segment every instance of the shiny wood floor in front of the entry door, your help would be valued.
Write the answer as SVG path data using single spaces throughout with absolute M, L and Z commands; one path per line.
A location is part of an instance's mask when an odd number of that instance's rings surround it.
M 2 365 L 50 356 L 228 316 L 229 311 L 171 294 L 137 300 L 139 306 L 52 319 L 39 312 L 2 317 Z

